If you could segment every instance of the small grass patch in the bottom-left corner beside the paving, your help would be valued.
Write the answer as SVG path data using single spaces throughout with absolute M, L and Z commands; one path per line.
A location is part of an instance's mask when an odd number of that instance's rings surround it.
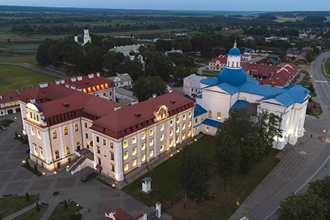
M 34 200 L 34 195 L 29 195 L 29 201 L 27 202 L 25 195 L 11 198 L 1 198 L 0 199 L 0 216 L 1 218 L 6 218 L 15 212 L 24 209 L 25 207 L 36 202 Z

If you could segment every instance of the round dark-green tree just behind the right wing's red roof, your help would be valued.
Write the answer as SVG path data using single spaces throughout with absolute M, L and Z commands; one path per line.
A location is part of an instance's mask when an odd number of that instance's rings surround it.
M 147 79 L 144 77 L 138 78 L 133 84 L 132 91 L 134 96 L 138 98 L 139 102 L 151 98 L 153 93 L 156 93 L 157 96 L 161 96 L 168 92 L 166 82 L 158 76 L 149 76 Z

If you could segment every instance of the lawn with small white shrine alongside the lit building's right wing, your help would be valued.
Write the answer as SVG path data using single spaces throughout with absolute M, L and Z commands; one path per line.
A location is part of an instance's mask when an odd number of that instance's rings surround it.
M 199 152 L 199 149 L 203 149 L 203 152 L 211 155 L 213 138 L 213 136 L 203 136 L 199 138 L 197 142 L 192 143 L 190 148 L 192 148 L 194 152 Z M 154 206 L 156 202 L 166 204 L 166 201 L 170 201 L 177 195 L 180 195 L 183 190 L 176 176 L 176 167 L 180 164 L 180 155 L 181 153 L 173 155 L 169 160 L 159 164 L 159 166 L 150 170 L 147 174 L 140 176 L 140 178 L 136 179 L 136 181 L 133 181 L 122 190 L 149 207 Z M 140 192 L 142 188 L 141 180 L 147 176 L 152 179 L 152 192 L 145 195 Z

